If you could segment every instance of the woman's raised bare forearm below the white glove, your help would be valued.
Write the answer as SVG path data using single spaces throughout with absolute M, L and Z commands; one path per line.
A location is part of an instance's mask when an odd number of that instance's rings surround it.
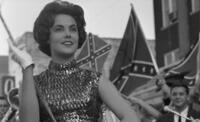
M 39 105 L 34 86 L 33 65 L 23 70 L 19 118 L 21 122 L 39 122 Z

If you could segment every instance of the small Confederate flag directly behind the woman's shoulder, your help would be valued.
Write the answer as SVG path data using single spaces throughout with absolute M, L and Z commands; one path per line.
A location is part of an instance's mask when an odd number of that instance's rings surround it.
M 110 49 L 110 44 L 89 33 L 81 48 L 77 63 L 80 67 L 91 68 L 101 72 Z

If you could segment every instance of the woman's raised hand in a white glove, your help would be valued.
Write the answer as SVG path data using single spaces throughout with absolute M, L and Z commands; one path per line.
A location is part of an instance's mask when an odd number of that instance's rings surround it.
M 8 45 L 13 52 L 12 58 L 22 66 L 23 69 L 26 69 L 28 66 L 33 64 L 32 57 L 25 50 L 20 50 L 14 46 L 11 40 L 8 40 Z

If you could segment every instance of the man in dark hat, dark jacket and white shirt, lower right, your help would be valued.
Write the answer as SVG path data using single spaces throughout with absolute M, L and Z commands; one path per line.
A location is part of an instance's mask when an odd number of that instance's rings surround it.
M 200 112 L 194 110 L 189 102 L 189 88 L 184 75 L 185 73 L 180 73 L 165 78 L 166 84 L 170 87 L 171 107 L 164 109 L 168 112 L 160 116 L 156 122 L 200 122 Z

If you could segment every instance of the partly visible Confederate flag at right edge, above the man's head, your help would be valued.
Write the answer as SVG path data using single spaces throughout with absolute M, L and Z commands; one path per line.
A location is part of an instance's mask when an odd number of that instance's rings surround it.
M 181 72 L 188 72 L 184 77 L 189 86 L 194 86 L 197 74 L 197 54 L 198 54 L 199 41 L 194 45 L 186 58 L 177 66 L 173 67 L 169 74 L 177 74 Z

